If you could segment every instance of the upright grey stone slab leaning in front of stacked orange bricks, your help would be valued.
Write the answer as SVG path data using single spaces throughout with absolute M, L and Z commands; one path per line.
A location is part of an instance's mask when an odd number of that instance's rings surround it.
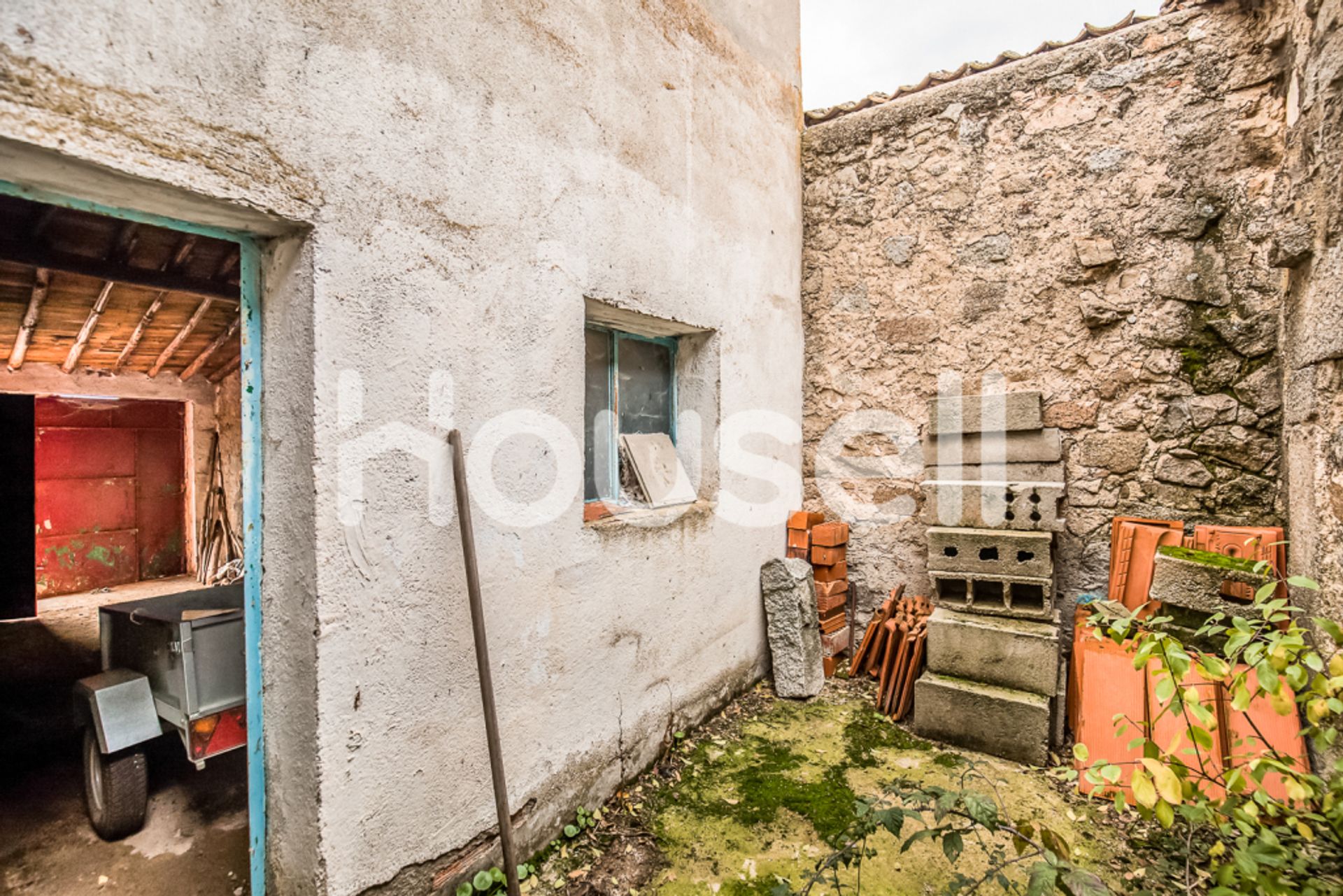
M 826 676 L 811 564 L 798 557 L 768 560 L 760 567 L 760 592 L 775 693 L 780 697 L 817 696 Z

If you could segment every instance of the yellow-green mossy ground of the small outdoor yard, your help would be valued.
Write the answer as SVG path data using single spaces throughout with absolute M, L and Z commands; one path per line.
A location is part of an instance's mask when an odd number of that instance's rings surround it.
M 1096 869 L 1116 892 L 1125 889 L 1119 870 L 1124 825 L 1107 803 L 1072 794 L 1046 771 L 919 740 L 872 709 L 870 690 L 866 681 L 831 681 L 803 703 L 776 700 L 761 685 L 690 732 L 612 801 L 607 817 L 622 836 L 603 841 L 600 829 L 594 832 L 586 858 L 582 845 L 571 845 L 567 852 L 577 858 L 547 861 L 541 884 L 573 892 L 590 869 L 596 873 L 603 849 L 627 850 L 627 838 L 638 832 L 651 838 L 661 865 L 623 889 L 579 892 L 768 893 L 776 876 L 799 883 L 831 852 L 857 797 L 905 779 L 994 789 L 1014 819 L 1048 821 L 1070 841 L 1078 864 Z M 980 772 L 987 779 L 976 780 Z M 865 893 L 936 893 L 951 880 L 954 869 L 935 842 L 901 853 L 900 842 L 882 832 L 869 845 L 877 856 L 862 865 Z M 956 870 L 984 868 L 983 849 L 967 844 Z M 842 880 L 851 884 L 853 877 L 849 870 Z

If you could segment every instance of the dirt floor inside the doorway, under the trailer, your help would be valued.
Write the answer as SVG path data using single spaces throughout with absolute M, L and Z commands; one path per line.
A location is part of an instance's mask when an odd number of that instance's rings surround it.
M 0 622 L 0 893 L 234 896 L 247 892 L 243 751 L 187 762 L 173 737 L 150 744 L 145 827 L 98 838 L 83 807 L 71 685 L 98 670 L 97 607 L 195 586 L 160 579 L 50 598 L 36 619 Z

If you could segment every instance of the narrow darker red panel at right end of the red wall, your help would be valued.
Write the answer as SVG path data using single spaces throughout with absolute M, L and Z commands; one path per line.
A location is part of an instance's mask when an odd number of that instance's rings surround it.
M 136 528 L 140 578 L 187 571 L 185 476 L 181 427 L 136 430 Z

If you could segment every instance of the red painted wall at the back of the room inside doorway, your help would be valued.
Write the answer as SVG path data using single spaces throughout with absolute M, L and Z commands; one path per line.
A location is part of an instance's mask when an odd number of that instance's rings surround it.
M 36 399 L 38 596 L 180 575 L 180 402 Z

